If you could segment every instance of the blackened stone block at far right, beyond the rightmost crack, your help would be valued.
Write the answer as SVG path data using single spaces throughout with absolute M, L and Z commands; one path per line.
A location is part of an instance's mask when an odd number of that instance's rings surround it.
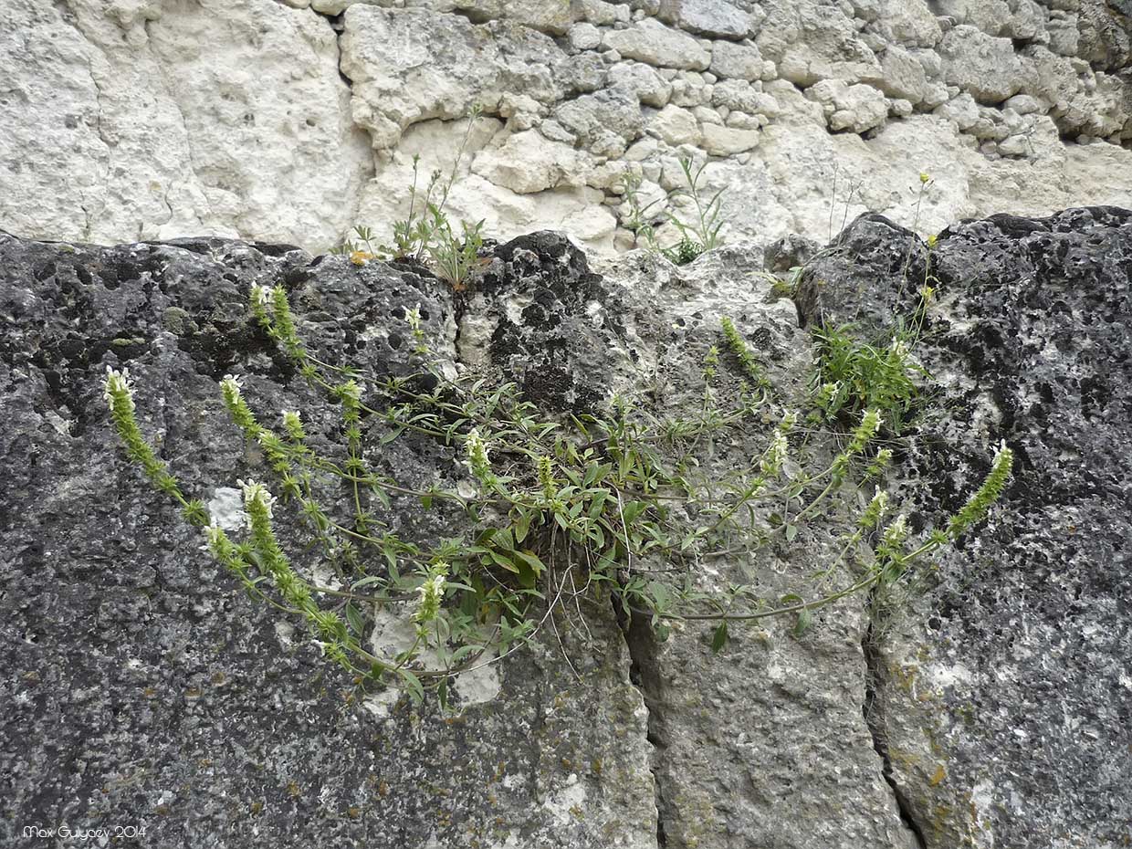
M 923 281 L 927 256 L 859 221 L 799 307 L 891 323 L 915 298 L 902 269 Z M 932 495 L 914 520 L 962 504 L 987 444 L 1005 439 L 1018 470 L 1007 508 L 886 624 L 875 731 L 928 849 L 1115 849 L 1132 833 L 1132 212 L 966 222 L 931 256 L 924 361 L 950 413 L 916 440 Z

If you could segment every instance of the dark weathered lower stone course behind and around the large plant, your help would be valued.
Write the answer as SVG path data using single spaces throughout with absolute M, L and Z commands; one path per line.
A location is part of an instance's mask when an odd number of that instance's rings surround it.
M 808 250 L 787 246 L 781 263 Z M 926 257 L 909 231 L 863 218 L 812 259 L 826 285 L 803 310 L 890 321 Z M 457 680 L 448 717 L 346 700 L 300 629 L 230 589 L 118 449 L 104 367 L 129 366 L 143 429 L 222 508 L 237 478 L 266 474 L 220 410 L 222 375 L 246 375 L 257 409 L 337 427 L 250 320 L 254 282 L 289 289 L 312 351 L 376 375 L 409 369 L 403 315 L 420 303 L 452 367 L 514 379 L 551 410 L 614 393 L 702 403 L 703 357 L 729 315 L 790 403 L 807 338 L 754 274 L 761 254 L 591 268 L 535 233 L 495 248 L 464 295 L 415 266 L 208 238 L 0 235 L 0 259 L 2 841 L 61 824 L 145 825 L 160 847 L 391 849 L 1116 849 L 1127 833 L 1132 212 L 969 222 L 932 251 L 923 350 L 945 414 L 907 443 L 928 484 L 907 482 L 914 525 L 961 504 L 988 444 L 1005 438 L 1020 469 L 902 615 L 878 621 L 849 598 L 800 638 L 770 620 L 717 655 L 709 623 L 657 642 L 593 608 L 589 636 L 563 629 L 567 654 L 548 636 Z M 397 479 L 466 474 L 428 440 L 379 446 L 380 428 L 369 460 Z M 720 441 L 711 462 L 746 462 L 758 439 Z M 411 538 L 463 521 L 415 499 L 387 518 Z M 803 542 L 705 561 L 692 580 L 786 592 L 829 544 Z

